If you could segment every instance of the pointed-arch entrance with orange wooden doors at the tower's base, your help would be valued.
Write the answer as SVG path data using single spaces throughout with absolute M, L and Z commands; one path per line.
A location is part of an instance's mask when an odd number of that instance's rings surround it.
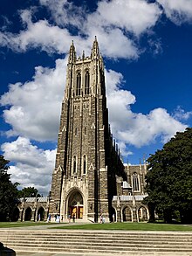
M 79 190 L 72 190 L 68 197 L 68 215 L 71 218 L 83 218 L 84 204 L 83 197 Z

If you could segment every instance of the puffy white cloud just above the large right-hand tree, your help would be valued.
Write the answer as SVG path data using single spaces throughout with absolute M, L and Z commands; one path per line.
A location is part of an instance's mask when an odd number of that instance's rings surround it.
M 176 121 L 161 107 L 155 108 L 147 115 L 133 114 L 127 123 L 130 123 L 130 126 L 125 130 L 119 129 L 117 137 L 120 141 L 138 148 L 155 142 L 158 137 L 161 137 L 162 143 L 168 142 L 177 131 L 187 128 L 187 125 Z

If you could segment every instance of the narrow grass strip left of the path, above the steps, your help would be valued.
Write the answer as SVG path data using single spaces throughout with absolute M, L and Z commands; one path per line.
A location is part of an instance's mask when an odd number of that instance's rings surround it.
M 10 227 L 25 227 L 33 225 L 52 225 L 55 223 L 47 222 L 33 222 L 33 221 L 24 221 L 24 222 L 0 222 L 0 228 L 10 228 Z

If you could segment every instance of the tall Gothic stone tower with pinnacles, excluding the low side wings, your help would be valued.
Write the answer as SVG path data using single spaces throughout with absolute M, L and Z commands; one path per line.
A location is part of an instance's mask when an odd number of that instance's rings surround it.
M 97 38 L 90 57 L 69 52 L 58 149 L 52 174 L 50 213 L 98 222 L 113 215 L 116 176 L 127 179 L 110 132 L 104 63 Z

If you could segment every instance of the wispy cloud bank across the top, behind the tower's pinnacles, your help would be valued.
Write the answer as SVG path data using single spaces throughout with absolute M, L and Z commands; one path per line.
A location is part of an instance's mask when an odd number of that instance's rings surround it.
M 122 0 L 100 1 L 98 9 L 93 13 L 87 13 L 66 0 L 54 3 L 51 0 L 40 0 L 40 3 L 51 11 L 54 23 L 46 19 L 32 22 L 34 10 L 22 10 L 20 17 L 24 30 L 17 34 L 0 32 L 0 45 L 16 52 L 39 48 L 48 53 L 66 53 L 73 39 L 80 45 L 79 51 L 82 52 L 90 50 L 93 38 L 97 35 L 103 56 L 137 59 L 141 53 L 140 46 L 137 39 L 130 38 L 130 33 L 139 37 L 153 28 L 161 16 L 156 3 L 144 0 L 127 0 L 126 3 Z M 72 27 L 79 30 L 76 36 L 71 33 Z

